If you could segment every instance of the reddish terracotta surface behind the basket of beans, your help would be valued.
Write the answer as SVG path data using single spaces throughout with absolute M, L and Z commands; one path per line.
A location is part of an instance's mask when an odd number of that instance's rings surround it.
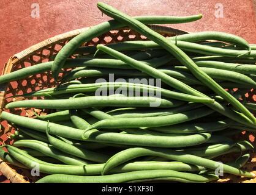
M 220 30 L 256 43 L 252 0 L 102 0 L 129 15 L 186 16 L 203 13 L 203 19 L 174 27 L 190 32 Z M 31 16 L 32 4 L 39 4 L 39 18 Z M 0 71 L 9 57 L 23 49 L 69 30 L 93 26 L 109 19 L 101 15 L 96 0 L 2 0 L 0 1 Z M 223 18 L 215 13 L 223 5 Z M 220 7 L 218 7 L 220 6 Z

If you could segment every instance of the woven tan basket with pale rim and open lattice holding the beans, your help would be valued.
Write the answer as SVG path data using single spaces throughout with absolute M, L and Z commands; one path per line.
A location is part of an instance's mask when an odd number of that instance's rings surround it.
M 170 27 L 158 27 L 151 26 L 152 29 L 156 30 L 160 34 L 165 37 L 170 37 L 177 34 L 184 34 L 183 30 L 172 29 Z M 56 37 L 50 38 L 48 40 L 42 41 L 24 51 L 13 55 L 10 57 L 9 62 L 7 62 L 4 66 L 4 70 L 2 74 L 7 74 L 12 71 L 16 71 L 17 69 L 24 68 L 27 66 L 32 66 L 37 63 L 48 62 L 51 59 L 51 56 L 58 53 L 58 51 L 73 37 L 84 32 L 86 28 L 73 30 L 67 32 L 65 34 L 58 35 Z M 91 41 L 84 43 L 83 46 L 96 45 L 96 44 L 108 44 L 108 43 L 116 43 L 120 41 L 127 40 L 146 40 L 146 37 L 134 32 L 134 30 L 130 30 L 127 28 L 111 30 L 106 34 L 93 38 Z M 60 77 L 62 74 L 60 74 Z M 53 78 L 51 77 L 50 71 L 47 73 L 36 74 L 34 76 L 29 76 L 26 79 L 17 80 L 15 82 L 10 82 L 6 85 L 0 85 L 0 106 L 1 111 L 4 110 L 6 112 L 15 113 L 16 115 L 34 116 L 34 110 L 30 108 L 15 108 L 12 110 L 6 110 L 4 106 L 11 101 L 20 101 L 24 98 L 10 98 L 16 94 L 28 93 L 30 91 L 39 90 L 47 87 L 54 87 L 55 83 Z M 252 99 L 254 95 L 254 90 L 249 91 L 249 98 Z M 35 98 L 36 99 L 36 98 Z M 36 110 L 37 113 L 47 113 L 49 110 Z M 1 131 L 0 131 L 0 144 L 12 144 L 13 140 L 10 139 L 10 135 L 15 131 L 15 129 L 7 123 L 7 121 L 1 121 Z M 236 138 L 243 140 L 250 140 L 252 144 L 254 143 L 254 135 L 250 133 L 243 133 L 241 135 L 236 136 Z M 225 155 L 225 158 L 235 157 L 233 155 Z M 225 160 L 225 159 L 224 159 Z M 249 171 L 253 171 L 256 168 L 256 155 L 252 154 L 251 162 L 247 163 L 244 166 L 244 169 Z M 2 173 L 2 175 L 1 175 Z M 38 178 L 31 177 L 31 174 L 26 169 L 17 168 L 15 166 L 7 165 L 0 159 L 0 182 L 34 182 Z M 223 179 L 220 179 L 218 182 L 254 182 L 254 180 L 246 180 L 241 177 L 225 175 Z

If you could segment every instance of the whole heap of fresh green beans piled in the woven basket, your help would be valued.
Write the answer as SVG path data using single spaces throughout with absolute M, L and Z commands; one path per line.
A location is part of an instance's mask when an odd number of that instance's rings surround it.
M 97 6 L 113 20 L 77 35 L 52 62 L 0 77 L 7 83 L 51 71 L 58 83 L 6 105 L 55 112 L 29 118 L 3 111 L 0 118 L 17 131 L 0 158 L 26 169 L 39 165 L 48 175 L 38 182 L 211 182 L 221 176 L 220 167 L 224 174 L 255 177 L 243 171 L 254 147 L 232 137 L 256 131 L 256 104 L 244 95 L 256 88 L 256 45 L 224 32 L 165 38 L 146 26 L 201 15 L 132 18 L 102 2 Z M 149 41 L 80 47 L 125 26 Z M 62 68 L 72 69 L 59 80 Z M 103 95 L 102 89 L 115 93 Z M 136 96 L 124 93 L 128 89 Z M 234 159 L 220 163 L 224 154 Z

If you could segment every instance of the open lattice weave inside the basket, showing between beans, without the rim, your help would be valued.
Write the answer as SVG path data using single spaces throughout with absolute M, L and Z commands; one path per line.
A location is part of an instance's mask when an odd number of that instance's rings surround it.
M 170 37 L 170 34 L 163 34 L 165 37 Z M 71 38 L 71 37 L 70 37 Z M 58 51 L 70 40 L 64 41 L 57 41 L 50 46 L 45 48 L 41 48 L 32 54 L 29 54 L 23 60 L 19 60 L 17 63 L 13 64 L 12 71 L 16 71 L 17 69 L 21 69 L 27 66 L 36 65 L 42 62 L 49 62 L 51 61 L 53 55 L 58 53 Z M 146 37 L 143 35 L 134 32 L 134 30 L 130 30 L 127 28 L 118 29 L 118 30 L 111 30 L 106 34 L 93 38 L 91 41 L 84 43 L 83 46 L 90 46 L 96 44 L 109 44 L 109 43 L 116 43 L 120 41 L 128 41 L 128 40 L 146 40 Z M 72 56 L 73 58 L 75 56 Z M 62 77 L 63 73 L 59 74 L 59 77 Z M 12 96 L 20 95 L 24 93 L 29 93 L 34 90 L 39 90 L 48 87 L 55 87 L 55 82 L 51 77 L 50 71 L 46 73 L 36 74 L 34 76 L 29 76 L 26 79 L 21 79 L 17 81 L 10 82 L 7 90 L 4 91 L 5 102 L 6 105 L 8 102 L 12 101 L 20 101 L 25 98 L 12 98 Z M 246 94 L 246 98 L 249 99 L 251 102 L 255 99 L 255 90 L 252 89 L 248 91 Z M 33 99 L 40 99 L 40 98 L 33 98 Z M 41 115 L 44 113 L 50 113 L 51 110 L 40 110 L 40 109 L 31 109 L 31 108 L 15 108 L 12 110 L 7 110 L 2 108 L 2 110 L 6 112 L 11 112 L 16 115 L 34 117 L 34 111 L 40 113 Z M 0 131 L 0 144 L 12 144 L 13 140 L 10 139 L 10 135 L 15 131 L 15 129 L 7 123 L 7 121 L 1 121 L 1 131 Z M 254 133 L 250 132 L 243 132 L 240 135 L 236 135 L 235 137 L 237 140 L 249 140 L 254 146 L 255 144 L 255 137 Z M 249 171 L 256 170 L 256 154 L 251 154 L 251 161 L 244 166 L 244 169 Z M 234 159 L 234 155 L 225 155 L 221 158 L 222 161 Z M 13 166 L 12 166 L 13 167 Z M 37 180 L 36 177 L 31 177 L 31 174 L 28 170 L 20 169 L 17 167 L 13 167 L 18 173 L 22 174 L 25 179 L 29 180 L 30 182 L 34 182 Z M 1 175 L 1 174 L 0 174 Z M 0 182 L 8 182 L 6 177 L 0 176 Z M 246 180 L 241 177 L 231 176 L 229 174 L 225 175 L 219 182 L 254 182 L 254 180 Z

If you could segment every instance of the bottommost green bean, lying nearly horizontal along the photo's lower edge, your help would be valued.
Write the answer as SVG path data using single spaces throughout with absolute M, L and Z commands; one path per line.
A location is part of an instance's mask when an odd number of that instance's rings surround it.
M 151 171 L 133 171 L 127 173 L 113 174 L 110 176 L 69 176 L 55 174 L 45 176 L 37 183 L 119 183 L 119 182 L 145 182 L 156 180 L 169 180 L 175 182 L 195 183 L 195 182 L 209 182 L 217 180 L 218 177 L 214 175 L 203 176 L 191 174 L 188 172 L 178 172 L 171 170 L 151 170 Z

